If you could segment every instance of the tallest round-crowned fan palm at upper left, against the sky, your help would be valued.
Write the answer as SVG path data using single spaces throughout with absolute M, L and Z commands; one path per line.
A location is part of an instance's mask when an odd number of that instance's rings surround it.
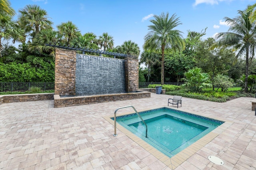
M 41 9 L 40 6 L 26 5 L 19 12 L 18 22 L 32 38 L 36 37 L 41 29 L 52 29 L 52 21 L 48 20 L 46 10 Z M 30 33 L 31 31 L 32 33 Z

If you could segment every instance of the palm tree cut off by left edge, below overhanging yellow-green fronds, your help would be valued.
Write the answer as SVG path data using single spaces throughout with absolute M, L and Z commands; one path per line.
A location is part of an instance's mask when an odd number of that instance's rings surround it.
M 2 52 L 2 40 L 10 40 L 24 42 L 24 31 L 20 29 L 16 22 L 10 16 L 4 16 L 0 19 L 0 56 Z

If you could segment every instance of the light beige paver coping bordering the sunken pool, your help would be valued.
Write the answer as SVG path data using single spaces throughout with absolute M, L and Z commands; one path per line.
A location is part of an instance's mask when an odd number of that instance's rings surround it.
M 160 109 L 160 108 L 163 108 L 163 107 L 157 107 L 157 108 L 154 108 L 154 109 Z M 180 111 L 178 109 L 174 109 L 174 110 Z M 138 112 L 143 112 L 143 111 L 147 111 L 147 110 L 141 110 L 141 111 L 138 111 Z M 130 111 L 130 112 L 126 112 L 126 113 L 120 113 L 120 114 L 118 114 L 118 116 L 128 115 L 128 114 L 131 114 L 131 113 L 134 113 L 134 111 Z M 192 113 L 192 114 L 198 115 L 198 114 L 195 114 L 195 113 Z M 198 115 L 198 116 L 201 116 L 201 115 Z M 114 120 L 111 119 L 112 117 L 113 116 L 104 116 L 103 118 L 114 126 Z M 203 116 L 203 117 L 206 117 L 206 116 Z M 166 156 L 165 154 L 163 154 L 159 150 L 155 149 L 150 144 L 146 143 L 143 139 L 140 139 L 140 137 L 136 136 L 135 134 L 130 132 L 128 129 L 126 129 L 125 127 L 123 127 L 119 123 L 116 123 L 116 128 L 118 130 L 120 130 L 122 133 L 124 133 L 124 135 L 126 135 L 127 137 L 132 139 L 134 142 L 136 142 L 138 145 L 140 145 L 142 148 L 147 150 L 150 154 L 155 156 L 158 160 L 163 162 L 166 166 L 168 166 L 171 169 L 175 169 L 180 164 L 185 162 L 188 158 L 190 158 L 190 156 L 195 154 L 198 150 L 202 149 L 205 145 L 210 143 L 210 141 L 212 141 L 215 137 L 220 135 L 225 129 L 227 129 L 228 127 L 230 127 L 230 125 L 233 124 L 233 122 L 231 122 L 231 121 L 225 121 L 223 119 L 219 119 L 219 118 L 216 118 L 216 117 L 206 117 L 206 118 L 215 119 L 215 120 L 218 120 L 218 121 L 223 121 L 224 123 L 222 123 L 216 129 L 214 129 L 210 133 L 206 134 L 204 137 L 202 137 L 201 139 L 199 139 L 198 141 L 196 141 L 192 145 L 188 146 L 186 149 L 183 149 L 182 151 L 178 152 L 177 154 L 175 154 L 171 158 Z M 113 128 L 113 132 L 114 132 L 114 128 Z

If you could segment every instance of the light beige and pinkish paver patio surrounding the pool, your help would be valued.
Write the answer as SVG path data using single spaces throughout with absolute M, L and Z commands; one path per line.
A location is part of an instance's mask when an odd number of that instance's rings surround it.
M 1 170 L 168 170 L 103 117 L 118 107 L 138 111 L 167 107 L 170 96 L 54 108 L 53 100 L 0 105 Z M 230 121 L 232 124 L 210 143 L 185 160 L 176 170 L 256 169 L 256 116 L 250 100 L 226 103 L 182 98 L 179 110 Z M 169 106 L 176 109 L 176 106 Z M 131 108 L 118 111 L 132 112 Z M 216 165 L 214 155 L 224 160 Z

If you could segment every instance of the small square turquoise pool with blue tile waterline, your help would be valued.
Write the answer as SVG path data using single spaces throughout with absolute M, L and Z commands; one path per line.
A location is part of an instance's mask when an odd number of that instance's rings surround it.
M 145 137 L 146 127 L 136 113 L 118 116 L 116 121 L 168 157 L 174 156 L 224 123 L 167 107 L 139 114 L 148 126 L 148 138 Z

